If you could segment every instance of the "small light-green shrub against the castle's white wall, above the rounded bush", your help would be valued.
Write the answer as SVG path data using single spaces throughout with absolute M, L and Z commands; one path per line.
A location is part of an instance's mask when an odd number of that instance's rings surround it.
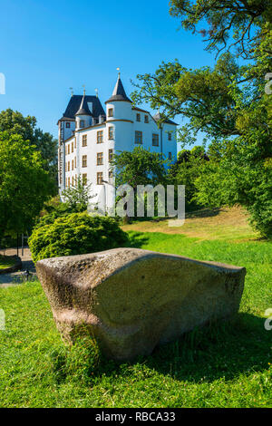
M 75 185 L 63 190 L 62 196 L 67 207 L 74 212 L 87 210 L 90 199 L 95 197 L 95 194 L 91 194 L 91 189 L 92 183 L 84 184 L 79 175 Z

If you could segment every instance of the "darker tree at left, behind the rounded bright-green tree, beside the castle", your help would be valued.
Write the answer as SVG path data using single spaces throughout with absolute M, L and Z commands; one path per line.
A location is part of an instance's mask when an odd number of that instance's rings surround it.
M 36 119 L 30 115 L 24 117 L 21 112 L 10 108 L 0 112 L 0 133 L 20 135 L 30 145 L 41 152 L 43 168 L 57 181 L 57 140 L 48 133 L 36 128 Z

